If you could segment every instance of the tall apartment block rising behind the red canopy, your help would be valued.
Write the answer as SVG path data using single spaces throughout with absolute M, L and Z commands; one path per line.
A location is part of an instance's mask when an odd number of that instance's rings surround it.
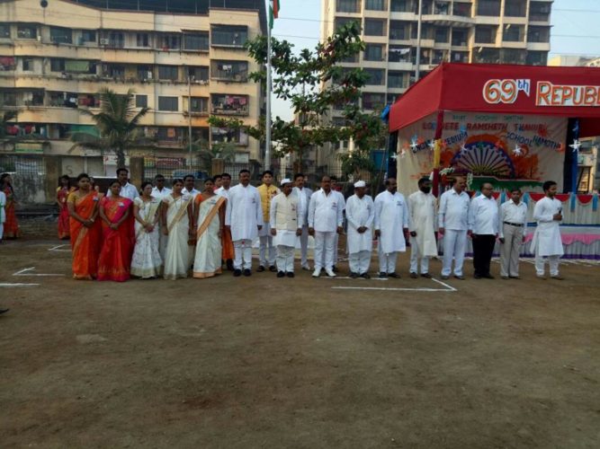
M 552 0 L 421 3 L 421 77 L 442 62 L 547 63 Z M 322 38 L 350 21 L 363 29 L 365 50 L 344 66 L 361 66 L 370 75 L 363 88 L 364 110 L 381 110 L 415 82 L 418 11 L 418 0 L 323 1 Z M 341 120 L 339 110 L 331 112 L 334 122 Z

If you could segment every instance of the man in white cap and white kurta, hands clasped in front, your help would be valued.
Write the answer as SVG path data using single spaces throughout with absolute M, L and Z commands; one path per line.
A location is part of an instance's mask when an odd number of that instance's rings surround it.
M 372 226 L 375 205 L 369 195 L 365 195 L 363 180 L 354 182 L 354 195 L 345 203 L 345 219 L 348 223 L 348 264 L 350 277 L 368 279 L 373 246 Z

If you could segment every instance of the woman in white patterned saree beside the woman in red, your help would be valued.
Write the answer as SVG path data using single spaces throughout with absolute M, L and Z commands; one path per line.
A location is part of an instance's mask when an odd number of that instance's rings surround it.
M 141 185 L 141 197 L 133 200 L 136 245 L 131 258 L 131 276 L 159 277 L 163 260 L 158 252 L 160 199 L 152 196 L 152 183 Z

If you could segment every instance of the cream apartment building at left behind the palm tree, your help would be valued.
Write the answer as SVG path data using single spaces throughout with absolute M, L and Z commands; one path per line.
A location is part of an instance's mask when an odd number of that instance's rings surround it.
M 207 120 L 257 123 L 264 92 L 248 80 L 259 67 L 244 43 L 265 26 L 262 0 L 4 1 L 0 105 L 18 112 L 8 132 L 20 136 L 4 151 L 62 155 L 77 167 L 85 156 L 98 172 L 106 159 L 69 151 L 68 136 L 95 132 L 79 109 L 97 110 L 96 92 L 110 88 L 133 89 L 136 108 L 150 109 L 141 126 L 156 139 L 153 156 L 184 160 L 191 128 L 193 141 L 237 145 L 237 162 L 260 160 L 253 138 Z

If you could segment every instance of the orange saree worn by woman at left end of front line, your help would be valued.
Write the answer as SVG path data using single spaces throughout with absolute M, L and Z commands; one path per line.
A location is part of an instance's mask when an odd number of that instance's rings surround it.
M 75 193 L 69 196 L 69 202 L 75 207 L 75 212 L 82 218 L 89 219 L 95 211 L 98 193 L 92 191 L 84 198 L 76 198 Z M 73 278 L 93 279 L 98 275 L 98 254 L 100 253 L 100 223 L 96 220 L 92 227 L 85 227 L 81 222 L 71 217 L 69 233 L 73 250 Z

